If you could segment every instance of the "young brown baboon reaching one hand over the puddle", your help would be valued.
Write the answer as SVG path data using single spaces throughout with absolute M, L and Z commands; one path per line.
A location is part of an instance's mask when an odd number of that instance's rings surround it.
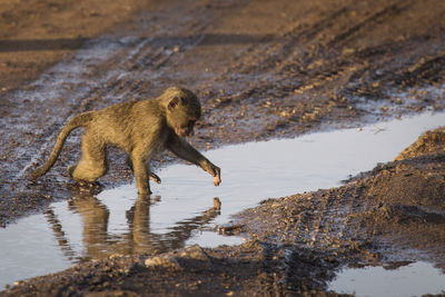
M 176 156 L 200 166 L 221 182 L 219 167 L 211 164 L 182 137 L 192 135 L 201 117 L 201 106 L 190 90 L 171 87 L 151 100 L 118 103 L 102 110 L 88 111 L 71 118 L 62 128 L 48 160 L 30 175 L 30 180 L 44 175 L 56 162 L 71 130 L 82 127 L 81 158 L 68 171 L 77 181 L 93 182 L 108 171 L 107 145 L 125 150 L 132 165 L 140 195 L 149 195 L 150 158 L 156 150 L 168 149 Z

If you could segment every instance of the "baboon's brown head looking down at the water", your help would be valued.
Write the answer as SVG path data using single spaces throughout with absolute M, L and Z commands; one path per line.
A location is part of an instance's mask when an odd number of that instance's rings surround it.
M 171 87 L 161 97 L 167 107 L 167 125 L 181 137 L 192 135 L 195 122 L 201 117 L 201 105 L 196 95 Z

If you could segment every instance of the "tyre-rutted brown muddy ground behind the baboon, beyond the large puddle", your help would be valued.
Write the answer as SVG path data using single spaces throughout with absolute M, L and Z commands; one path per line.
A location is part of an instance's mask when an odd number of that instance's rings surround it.
M 11 75 L 1 76 L 7 83 L 0 93 L 1 226 L 71 197 L 66 168 L 79 157 L 79 132 L 48 175 L 37 185 L 27 182 L 70 117 L 158 96 L 171 85 L 187 86 L 202 101 L 204 120 L 190 138 L 199 149 L 444 108 L 441 0 L 135 0 L 131 8 L 139 14 L 105 37 L 83 40 L 78 51 L 48 69 L 66 51 L 47 39 L 89 38 L 134 11 L 125 12 L 120 1 L 98 7 L 62 2 L 29 2 L 32 18 L 23 6 L 2 8 L 9 29 L 1 30 L 0 55 Z M 32 41 L 30 36 L 37 42 L 32 50 L 8 41 Z M 111 170 L 100 182 L 131 181 L 123 156 L 111 149 L 109 159 Z M 168 159 L 157 158 L 155 167 Z

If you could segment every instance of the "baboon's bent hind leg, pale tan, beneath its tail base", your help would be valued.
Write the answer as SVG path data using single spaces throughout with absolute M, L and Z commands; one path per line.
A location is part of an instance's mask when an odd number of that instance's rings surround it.
M 93 182 L 108 171 L 107 150 L 105 143 L 100 143 L 88 133 L 82 137 L 82 155 L 79 164 L 69 169 L 71 177 L 77 181 Z

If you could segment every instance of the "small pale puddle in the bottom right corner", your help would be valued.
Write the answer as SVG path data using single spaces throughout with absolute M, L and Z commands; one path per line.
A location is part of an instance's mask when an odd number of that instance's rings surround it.
M 397 269 L 348 268 L 328 286 L 329 290 L 355 296 L 422 296 L 444 294 L 445 275 L 429 263 L 418 261 Z

